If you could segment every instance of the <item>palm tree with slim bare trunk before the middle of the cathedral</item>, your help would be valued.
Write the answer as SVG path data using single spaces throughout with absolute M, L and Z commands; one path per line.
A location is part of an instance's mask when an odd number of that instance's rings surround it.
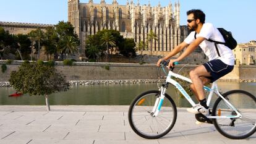
M 101 45 L 106 46 L 106 62 L 108 62 L 108 54 L 109 54 L 108 46 L 111 46 L 111 47 L 116 46 L 116 42 L 114 41 L 114 36 L 111 35 L 110 32 L 103 33 L 101 37 Z

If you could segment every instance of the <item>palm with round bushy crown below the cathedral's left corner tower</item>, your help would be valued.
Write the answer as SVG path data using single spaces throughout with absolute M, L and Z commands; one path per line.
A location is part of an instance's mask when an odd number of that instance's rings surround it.
M 78 48 L 77 46 L 79 46 L 79 43 L 77 40 L 75 40 L 74 36 L 64 36 L 64 38 L 61 40 L 61 53 L 67 54 L 74 54 L 78 52 Z

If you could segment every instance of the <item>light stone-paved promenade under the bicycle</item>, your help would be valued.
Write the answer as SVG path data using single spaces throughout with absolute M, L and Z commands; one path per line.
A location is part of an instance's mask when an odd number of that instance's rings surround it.
M 211 124 L 195 124 L 193 114 L 179 108 L 176 124 L 166 136 L 147 140 L 130 128 L 129 106 L 0 106 L 0 143 L 256 143 L 256 133 L 245 140 L 223 137 Z

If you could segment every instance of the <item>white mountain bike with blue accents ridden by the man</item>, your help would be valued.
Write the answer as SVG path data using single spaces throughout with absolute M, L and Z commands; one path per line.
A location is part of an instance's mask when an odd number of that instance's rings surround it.
M 161 68 L 164 72 L 164 67 L 167 65 L 168 61 L 161 63 Z M 159 90 L 145 91 L 130 104 L 128 112 L 129 124 L 132 130 L 140 137 L 148 139 L 160 138 L 173 129 L 177 119 L 177 108 L 171 96 L 166 93 L 169 84 L 174 85 L 186 100 L 192 106 L 195 106 L 194 101 L 173 77 L 189 83 L 192 83 L 192 81 L 187 77 L 174 73 L 173 69 L 174 67 L 171 67 L 166 76 L 166 81 Z M 216 82 L 212 83 L 211 88 L 206 86 L 203 88 L 209 92 L 207 106 L 210 105 L 213 93 L 218 98 L 213 108 L 210 108 L 211 113 L 208 116 L 195 114 L 197 121 L 213 124 L 224 137 L 232 139 L 247 138 L 255 133 L 256 98 L 254 95 L 244 90 L 231 90 L 226 93 L 220 93 Z M 243 101 L 239 101 L 241 99 Z

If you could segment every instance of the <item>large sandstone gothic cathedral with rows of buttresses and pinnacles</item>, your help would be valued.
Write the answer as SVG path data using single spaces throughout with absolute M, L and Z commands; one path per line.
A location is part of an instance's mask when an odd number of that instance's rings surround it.
M 152 54 L 165 55 L 188 35 L 187 26 L 180 25 L 179 9 L 179 2 L 165 7 L 159 2 L 152 7 L 150 2 L 140 5 L 139 0 L 137 4 L 127 0 L 126 6 L 119 5 L 116 0 L 112 4 L 106 4 L 105 0 L 100 4 L 93 0 L 88 3 L 68 0 L 68 20 L 79 35 L 81 49 L 85 49 L 88 35 L 103 29 L 117 30 L 124 38 L 133 38 L 135 43 L 146 41 L 147 34 L 153 30 L 158 40 L 153 40 Z

